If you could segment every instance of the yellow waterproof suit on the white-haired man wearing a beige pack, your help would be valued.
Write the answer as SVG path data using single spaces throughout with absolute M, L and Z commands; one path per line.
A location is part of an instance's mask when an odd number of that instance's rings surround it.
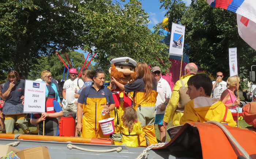
M 192 76 L 193 76 L 193 74 L 187 74 L 187 75 L 184 75 L 181 77 L 181 80 L 184 83 L 185 87 L 188 86 L 188 80 Z M 166 106 L 165 116 L 163 117 L 163 121 L 165 121 L 165 123 L 169 123 L 171 119 L 174 121 L 173 117 L 175 114 L 175 110 L 177 109 L 178 101 L 180 100 L 179 89 L 181 87 L 182 87 L 181 81 L 178 80 L 173 87 L 173 92 L 172 92 L 170 101 L 169 101 L 168 105 Z M 183 113 L 181 113 L 181 112 L 177 112 L 177 113 L 180 114 L 179 115 L 180 117 L 183 115 Z M 174 124 L 174 126 L 176 126 L 176 125 L 179 125 L 179 124 Z

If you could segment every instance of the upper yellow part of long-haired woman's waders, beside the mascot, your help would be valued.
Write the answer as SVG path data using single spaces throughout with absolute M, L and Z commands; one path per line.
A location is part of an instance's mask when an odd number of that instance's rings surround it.
M 135 110 L 140 106 L 155 106 L 155 102 L 157 102 L 157 91 L 152 90 L 147 98 L 143 98 L 144 93 L 145 92 L 135 91 L 135 98 L 133 100 Z

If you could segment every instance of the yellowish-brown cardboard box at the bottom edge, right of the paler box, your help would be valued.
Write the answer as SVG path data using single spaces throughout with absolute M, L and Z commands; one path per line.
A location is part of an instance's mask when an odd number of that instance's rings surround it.
M 27 148 L 16 153 L 20 159 L 50 159 L 46 146 Z

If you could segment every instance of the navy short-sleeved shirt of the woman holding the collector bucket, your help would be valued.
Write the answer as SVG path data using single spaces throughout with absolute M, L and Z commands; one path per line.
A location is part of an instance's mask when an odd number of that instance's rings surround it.
M 90 86 L 90 90 L 89 90 L 89 93 L 88 93 L 88 98 L 105 98 L 105 93 L 104 93 L 104 87 L 105 86 L 102 86 L 98 91 L 93 87 L 93 85 Z M 83 89 L 79 98 L 78 98 L 78 102 L 81 103 L 81 104 L 84 104 L 84 99 L 85 99 L 85 91 L 86 89 Z M 113 98 L 113 95 L 112 95 L 112 92 L 111 90 L 108 88 L 107 89 L 108 91 L 108 95 L 109 95 L 109 104 L 114 104 L 115 101 L 114 101 L 114 98 Z

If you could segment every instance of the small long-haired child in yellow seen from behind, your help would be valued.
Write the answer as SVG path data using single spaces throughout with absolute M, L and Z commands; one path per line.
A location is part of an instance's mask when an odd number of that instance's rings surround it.
M 122 143 L 130 147 L 139 146 L 138 135 L 142 133 L 142 128 L 136 110 L 132 107 L 126 108 L 121 119 L 118 127 L 123 133 Z

